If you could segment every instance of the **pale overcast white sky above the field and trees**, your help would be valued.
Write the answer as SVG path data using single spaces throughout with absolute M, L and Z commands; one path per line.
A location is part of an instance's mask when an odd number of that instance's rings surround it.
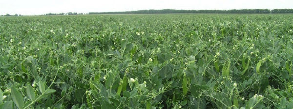
M 293 9 L 293 0 L 0 0 L 0 15 L 117 12 L 148 9 Z

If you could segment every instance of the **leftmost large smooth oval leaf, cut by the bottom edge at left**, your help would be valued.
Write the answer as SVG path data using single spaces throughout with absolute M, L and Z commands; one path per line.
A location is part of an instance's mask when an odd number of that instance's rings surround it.
M 16 106 L 19 109 L 22 109 L 23 108 L 23 97 L 22 97 L 21 93 L 19 93 L 17 91 L 17 89 L 15 89 L 15 87 L 11 87 L 11 97 L 12 97 L 14 103 L 16 104 Z

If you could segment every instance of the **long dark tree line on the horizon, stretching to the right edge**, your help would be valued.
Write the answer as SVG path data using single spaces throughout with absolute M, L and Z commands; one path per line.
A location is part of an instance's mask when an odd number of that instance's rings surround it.
M 90 12 L 89 15 L 95 14 L 287 14 L 293 13 L 293 9 L 242 9 L 242 10 L 139 10 L 126 12 Z

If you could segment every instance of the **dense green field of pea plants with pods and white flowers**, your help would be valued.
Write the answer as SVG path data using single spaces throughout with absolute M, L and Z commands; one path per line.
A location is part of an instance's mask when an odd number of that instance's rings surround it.
M 293 109 L 293 15 L 0 17 L 0 109 Z

